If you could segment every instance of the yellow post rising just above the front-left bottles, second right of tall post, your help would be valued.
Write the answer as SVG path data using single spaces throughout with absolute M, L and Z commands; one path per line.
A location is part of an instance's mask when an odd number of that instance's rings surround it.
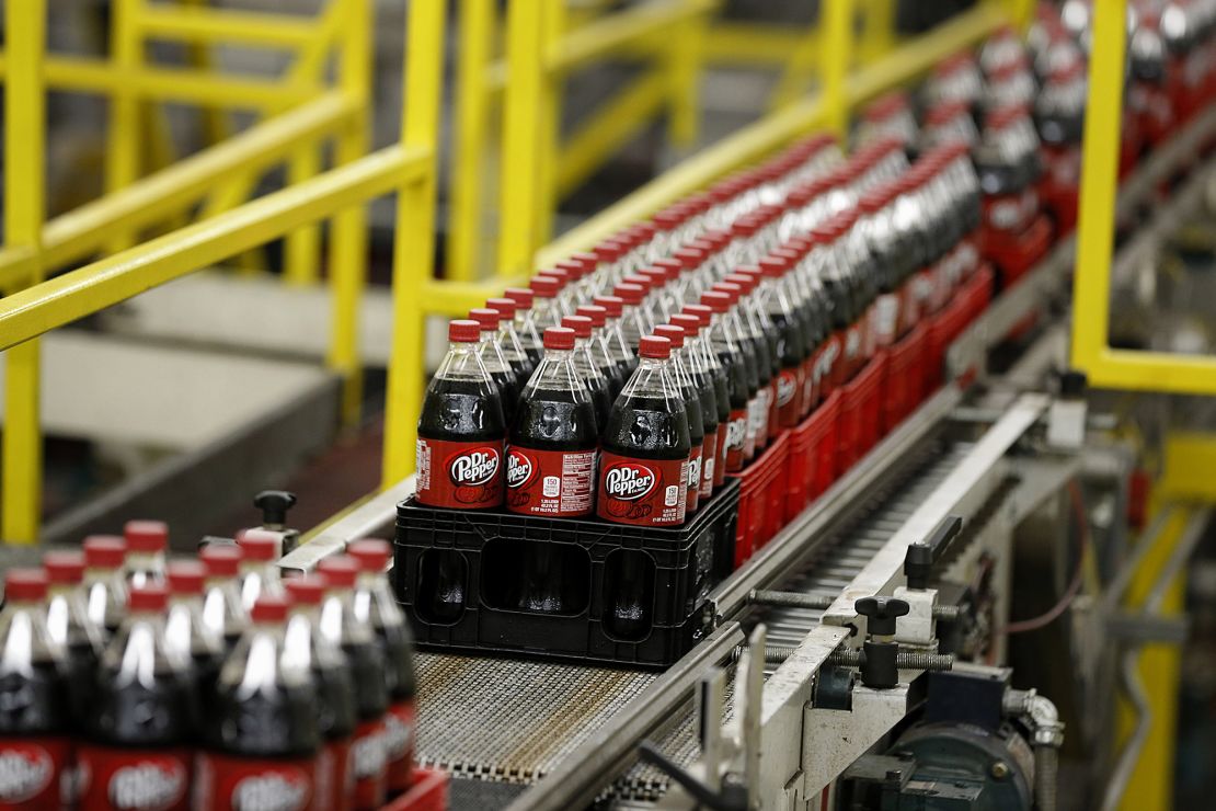
M 545 6 L 554 0 L 507 5 L 508 80 L 502 105 L 502 188 L 499 205 L 500 276 L 522 276 L 536 248 L 540 163 L 547 141 L 537 142 L 545 84 Z

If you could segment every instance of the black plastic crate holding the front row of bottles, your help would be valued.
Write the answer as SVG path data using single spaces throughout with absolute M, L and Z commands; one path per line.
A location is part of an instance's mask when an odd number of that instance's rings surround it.
M 731 573 L 738 501 L 728 481 L 683 526 L 642 528 L 411 499 L 396 508 L 394 587 L 423 648 L 663 668 L 700 638 L 705 597 Z M 557 576 L 537 575 L 545 556 Z M 614 610 L 626 567 L 641 618 Z M 525 607 L 530 575 L 561 613 Z

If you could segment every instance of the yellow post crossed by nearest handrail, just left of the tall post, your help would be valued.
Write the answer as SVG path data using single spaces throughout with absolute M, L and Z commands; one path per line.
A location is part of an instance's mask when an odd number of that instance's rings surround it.
M 345 0 L 342 39 L 342 62 L 338 83 L 342 92 L 356 101 L 358 111 L 338 135 L 338 164 L 358 160 L 367 152 L 368 118 L 372 79 L 371 0 Z M 430 4 L 411 4 L 430 5 Z M 411 32 L 411 47 L 413 44 Z M 314 150 L 313 156 L 316 154 Z M 297 156 L 299 158 L 299 156 Z M 308 167 L 305 167 L 308 168 Z M 400 238 L 400 236 L 398 237 Z M 310 246 L 310 250 L 311 247 Z M 303 259 L 302 259 L 303 260 Z M 311 257 L 316 263 L 316 257 Z M 333 218 L 330 248 L 330 288 L 332 316 L 330 337 L 330 367 L 343 376 L 343 424 L 359 422 L 362 402 L 362 360 L 359 351 L 359 312 L 367 281 L 367 215 L 366 207 L 353 205 Z

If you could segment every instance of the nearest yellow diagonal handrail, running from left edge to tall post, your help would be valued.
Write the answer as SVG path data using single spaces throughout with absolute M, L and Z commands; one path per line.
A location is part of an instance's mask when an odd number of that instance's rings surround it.
M 417 184 L 429 173 L 432 157 L 418 147 L 385 147 L 298 186 L 259 197 L 2 298 L 0 349 L 276 240 L 305 223 L 330 216 L 402 184 Z

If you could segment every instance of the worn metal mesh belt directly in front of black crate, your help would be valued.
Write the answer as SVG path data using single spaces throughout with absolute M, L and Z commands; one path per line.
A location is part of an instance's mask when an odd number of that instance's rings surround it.
M 420 653 L 418 760 L 480 779 L 533 783 L 655 674 Z

